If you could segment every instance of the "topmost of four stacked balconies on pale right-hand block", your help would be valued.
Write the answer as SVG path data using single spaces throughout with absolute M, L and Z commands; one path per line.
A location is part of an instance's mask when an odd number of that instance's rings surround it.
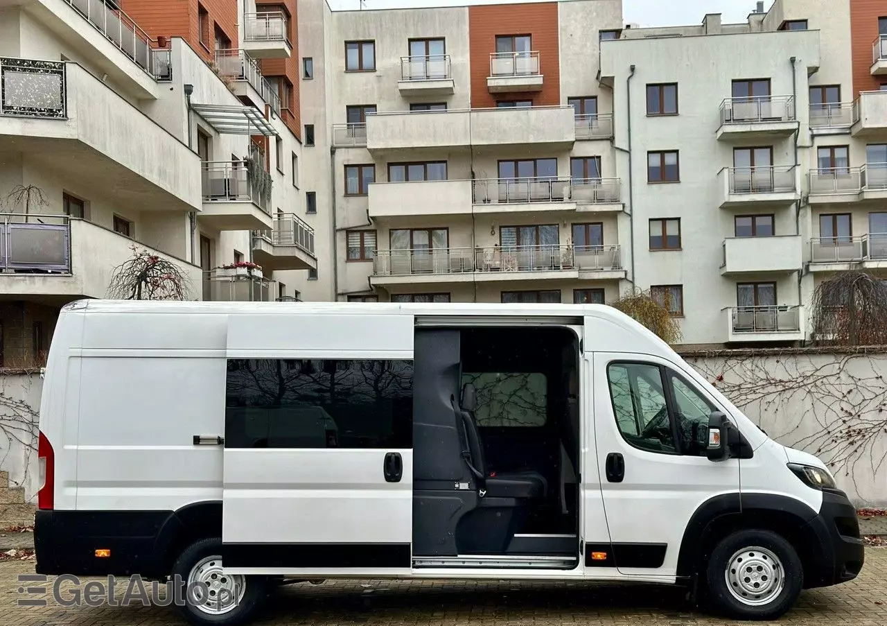
M 793 96 L 727 98 L 720 106 L 718 141 L 772 140 L 797 128 Z

